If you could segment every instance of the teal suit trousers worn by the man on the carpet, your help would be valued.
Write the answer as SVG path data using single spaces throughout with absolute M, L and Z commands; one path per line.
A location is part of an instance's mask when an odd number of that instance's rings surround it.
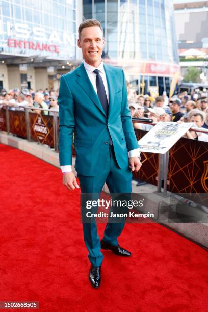
M 84 176 L 78 174 L 82 193 L 93 194 L 93 200 L 97 200 L 103 185 L 107 184 L 110 193 L 131 193 L 132 192 L 132 173 L 129 166 L 120 169 L 113 150 L 113 146 L 107 145 L 108 149 L 106 166 L 102 174 L 98 176 Z M 117 237 L 121 234 L 124 222 L 107 223 L 103 240 L 116 246 Z M 84 241 L 89 251 L 88 257 L 93 266 L 98 267 L 102 263 L 103 255 L 100 251 L 100 239 L 97 233 L 96 222 L 83 223 Z

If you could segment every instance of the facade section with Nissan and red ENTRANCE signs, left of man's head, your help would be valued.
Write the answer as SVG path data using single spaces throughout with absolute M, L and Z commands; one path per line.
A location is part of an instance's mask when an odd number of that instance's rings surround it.
M 77 59 L 76 15 L 75 0 L 0 0 L 0 88 L 58 88 Z

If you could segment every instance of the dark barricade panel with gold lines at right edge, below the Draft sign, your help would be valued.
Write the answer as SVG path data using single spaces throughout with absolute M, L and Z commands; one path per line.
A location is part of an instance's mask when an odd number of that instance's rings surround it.
M 170 149 L 168 190 L 172 193 L 207 193 L 197 202 L 208 199 L 208 143 L 181 138 Z

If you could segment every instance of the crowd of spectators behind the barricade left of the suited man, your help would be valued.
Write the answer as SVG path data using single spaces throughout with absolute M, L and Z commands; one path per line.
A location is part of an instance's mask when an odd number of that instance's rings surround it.
M 9 90 L 1 90 L 0 93 L 0 108 L 9 107 L 9 110 L 24 111 L 25 107 L 33 108 L 30 112 L 54 115 L 59 111 L 58 105 L 58 91 L 49 91 L 48 89 L 39 89 L 34 92 L 33 89 L 20 89 L 15 88 Z

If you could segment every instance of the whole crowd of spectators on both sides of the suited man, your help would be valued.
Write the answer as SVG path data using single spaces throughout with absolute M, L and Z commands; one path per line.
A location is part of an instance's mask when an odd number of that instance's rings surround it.
M 135 129 L 149 131 L 157 122 L 193 122 L 195 127 L 208 129 L 208 96 L 207 93 L 193 92 L 188 95 L 183 92 L 168 98 L 163 95 L 153 97 L 148 92 L 145 95 L 137 95 L 127 84 L 128 105 L 131 116 L 137 118 L 134 122 Z M 25 107 L 33 108 L 30 112 L 53 116 L 59 111 L 58 91 L 39 89 L 5 89 L 0 93 L 0 108 L 9 107 L 9 110 L 25 110 Z M 40 110 L 42 109 L 42 110 Z M 188 131 L 189 139 L 208 142 L 208 133 Z

